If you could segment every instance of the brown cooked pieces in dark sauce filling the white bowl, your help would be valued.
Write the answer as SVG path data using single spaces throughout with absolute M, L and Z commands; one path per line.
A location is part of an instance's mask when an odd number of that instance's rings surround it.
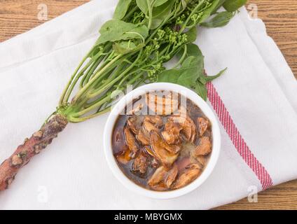
M 151 100 L 154 94 L 135 100 L 113 128 L 111 144 L 118 166 L 146 189 L 187 186 L 202 174 L 212 153 L 209 119 L 190 99 L 182 100 L 180 94 L 173 99 L 173 94 L 163 94 L 158 102 L 157 97 Z

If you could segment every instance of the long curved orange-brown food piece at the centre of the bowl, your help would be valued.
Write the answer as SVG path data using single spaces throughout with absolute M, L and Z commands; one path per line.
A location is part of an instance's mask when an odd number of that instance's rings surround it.
M 177 160 L 178 154 L 170 153 L 163 147 L 164 141 L 157 132 L 151 132 L 150 139 L 151 147 L 158 160 L 165 167 L 171 167 L 174 161 Z

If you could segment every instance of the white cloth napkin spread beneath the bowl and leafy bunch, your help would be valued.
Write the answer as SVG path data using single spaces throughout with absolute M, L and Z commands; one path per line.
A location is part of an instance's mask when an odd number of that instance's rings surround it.
M 0 160 L 55 110 L 116 2 L 90 1 L 0 44 Z M 199 29 L 196 43 L 209 74 L 228 66 L 213 82 L 219 96 L 209 86 L 223 142 L 219 162 L 200 188 L 173 200 L 126 190 L 104 158 L 106 114 L 70 124 L 0 193 L 0 209 L 209 209 L 296 179 L 297 83 L 263 22 L 242 8 L 227 27 Z

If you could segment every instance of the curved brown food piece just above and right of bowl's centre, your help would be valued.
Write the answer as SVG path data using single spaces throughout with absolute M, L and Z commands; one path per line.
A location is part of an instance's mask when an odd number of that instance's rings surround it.
M 181 132 L 184 133 L 188 141 L 194 142 L 196 139 L 196 125 L 189 116 L 174 115 L 171 116 L 168 120 L 179 123 L 181 125 Z

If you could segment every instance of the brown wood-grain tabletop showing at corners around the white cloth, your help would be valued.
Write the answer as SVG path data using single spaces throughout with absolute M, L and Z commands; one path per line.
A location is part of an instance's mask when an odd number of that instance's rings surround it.
M 48 20 L 51 20 L 86 2 L 88 0 L 0 0 L 0 42 L 46 22 L 38 19 L 41 3 L 48 7 Z M 258 17 L 265 22 L 268 34 L 282 50 L 297 78 L 297 1 L 250 0 L 249 3 L 256 3 Z M 257 203 L 249 203 L 245 198 L 218 209 L 297 209 L 297 181 L 259 193 Z

